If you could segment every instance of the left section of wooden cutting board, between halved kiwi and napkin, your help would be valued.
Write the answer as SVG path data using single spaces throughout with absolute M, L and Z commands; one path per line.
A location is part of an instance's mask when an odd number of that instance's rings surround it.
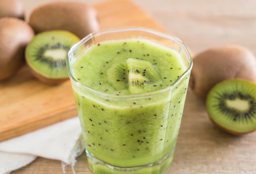
M 45 85 L 24 66 L 0 83 L 0 141 L 76 116 L 72 95 L 69 80 Z

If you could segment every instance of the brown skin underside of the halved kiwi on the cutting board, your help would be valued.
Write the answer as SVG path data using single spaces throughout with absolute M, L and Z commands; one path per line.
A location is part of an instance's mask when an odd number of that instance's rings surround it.
M 32 75 L 34 75 L 34 77 L 36 77 L 36 79 L 38 79 L 39 81 L 43 82 L 44 84 L 47 85 L 58 85 L 63 83 L 64 81 L 67 81 L 67 79 L 69 79 L 69 77 L 65 77 L 65 78 L 50 78 L 50 77 L 46 77 L 40 73 L 38 73 L 35 69 L 31 68 L 29 65 L 27 65 L 29 67 L 30 72 L 32 73 Z

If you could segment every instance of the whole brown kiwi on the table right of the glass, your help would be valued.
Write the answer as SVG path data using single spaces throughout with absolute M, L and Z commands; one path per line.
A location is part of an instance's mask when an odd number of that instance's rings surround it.
M 256 82 L 256 58 L 249 49 L 228 44 L 210 48 L 193 58 L 189 86 L 201 99 L 206 99 L 214 85 L 232 78 Z

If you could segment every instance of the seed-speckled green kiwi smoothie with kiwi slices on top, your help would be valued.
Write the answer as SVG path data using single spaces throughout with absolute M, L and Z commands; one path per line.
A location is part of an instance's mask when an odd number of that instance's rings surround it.
M 104 41 L 72 63 L 74 97 L 96 174 L 160 174 L 173 160 L 189 81 L 174 49 L 144 39 Z M 182 79 L 180 79 L 182 76 Z M 153 167 L 139 168 L 140 166 Z M 137 168 L 136 168 L 137 167 Z

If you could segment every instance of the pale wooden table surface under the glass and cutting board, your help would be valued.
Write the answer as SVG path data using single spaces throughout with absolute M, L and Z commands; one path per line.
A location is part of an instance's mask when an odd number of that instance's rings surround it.
M 27 13 L 53 0 L 21 0 Z M 98 3 L 103 0 L 80 0 Z M 226 43 L 256 54 L 255 0 L 133 0 L 194 53 Z M 86 156 L 77 158 L 76 174 L 92 174 Z M 11 174 L 62 174 L 60 161 L 38 158 Z M 66 174 L 72 174 L 70 166 Z M 256 132 L 232 136 L 214 126 L 204 102 L 189 89 L 174 161 L 164 174 L 256 174 Z

